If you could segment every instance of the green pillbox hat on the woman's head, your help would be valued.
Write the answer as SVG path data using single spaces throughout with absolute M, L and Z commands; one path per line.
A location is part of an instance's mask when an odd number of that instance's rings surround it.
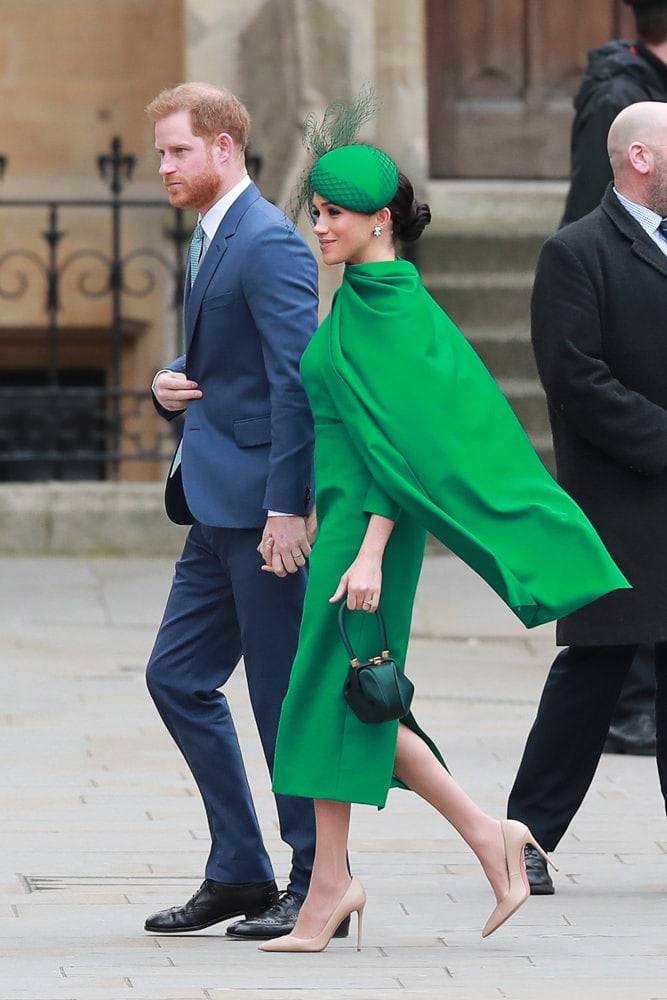
M 398 167 L 375 146 L 339 146 L 325 153 L 310 174 L 322 198 L 353 212 L 377 212 L 398 191 Z

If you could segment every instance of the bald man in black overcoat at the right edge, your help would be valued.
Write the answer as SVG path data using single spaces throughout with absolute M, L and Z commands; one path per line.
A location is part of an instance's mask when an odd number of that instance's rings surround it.
M 558 480 L 632 584 L 558 623 L 554 661 L 508 815 L 546 850 L 593 779 L 640 644 L 655 650 L 657 758 L 667 801 L 667 103 L 625 108 L 609 132 L 614 183 L 545 243 L 532 338 Z M 539 865 L 527 858 L 531 882 Z

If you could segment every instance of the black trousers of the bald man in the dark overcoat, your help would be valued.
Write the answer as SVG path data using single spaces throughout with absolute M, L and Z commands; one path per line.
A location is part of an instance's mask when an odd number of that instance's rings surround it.
M 583 802 L 637 646 L 570 646 L 547 677 L 507 815 L 553 851 Z M 660 787 L 667 804 L 667 643 L 655 645 Z

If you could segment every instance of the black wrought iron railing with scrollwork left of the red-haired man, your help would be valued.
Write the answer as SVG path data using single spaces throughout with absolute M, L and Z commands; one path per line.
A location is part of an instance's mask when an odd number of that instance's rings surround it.
M 190 224 L 164 200 L 122 197 L 134 157 L 123 153 L 118 137 L 97 165 L 109 182 L 108 198 L 0 199 L 2 232 L 14 237 L 10 246 L 0 237 L 0 480 L 118 478 L 124 463 L 156 462 L 173 450 L 173 429 L 154 419 L 149 388 L 124 378 L 124 349 L 133 326 L 142 325 L 129 317 L 128 303 L 153 296 L 143 325 L 157 326 L 167 315 L 173 323 L 167 339 L 178 350 Z M 160 222 L 155 213 L 168 222 L 152 244 L 128 248 L 128 213 L 136 234 L 143 212 L 153 230 Z M 96 245 L 65 239 L 73 217 L 85 219 L 76 231 L 93 234 Z M 93 300 L 108 308 L 91 312 Z M 14 321 L 1 318 L 8 313 Z M 104 364 L 91 368 L 85 361 L 91 346 Z

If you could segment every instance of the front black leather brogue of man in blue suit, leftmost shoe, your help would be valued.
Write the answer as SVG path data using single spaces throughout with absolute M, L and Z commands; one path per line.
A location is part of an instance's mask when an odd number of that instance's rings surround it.
M 276 883 L 247 882 L 228 885 L 204 879 L 194 896 L 183 906 L 172 906 L 149 917 L 144 928 L 155 934 L 179 934 L 201 931 L 229 917 L 245 913 L 255 917 L 278 899 Z

